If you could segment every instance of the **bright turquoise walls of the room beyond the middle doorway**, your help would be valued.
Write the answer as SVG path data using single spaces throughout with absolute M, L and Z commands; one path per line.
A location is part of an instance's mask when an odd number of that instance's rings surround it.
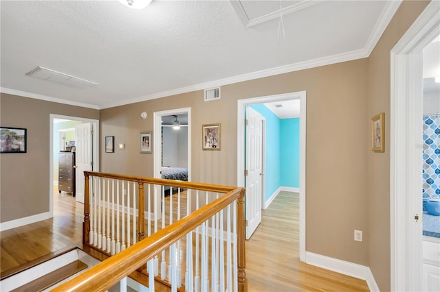
M 263 104 L 250 107 L 266 119 L 266 200 L 281 186 L 299 188 L 300 119 L 280 119 Z

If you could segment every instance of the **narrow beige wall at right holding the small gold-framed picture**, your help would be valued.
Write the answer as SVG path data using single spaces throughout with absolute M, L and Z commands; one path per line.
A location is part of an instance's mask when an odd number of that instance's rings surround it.
M 390 109 L 391 49 L 429 1 L 404 1 L 369 57 L 369 117 L 385 113 L 385 152 L 369 151 L 369 266 L 381 291 L 391 289 Z M 371 131 L 369 132 L 371 135 Z

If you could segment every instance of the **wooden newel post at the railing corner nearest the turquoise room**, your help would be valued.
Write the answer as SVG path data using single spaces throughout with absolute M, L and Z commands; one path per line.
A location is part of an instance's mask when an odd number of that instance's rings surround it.
M 245 256 L 245 189 L 241 191 L 237 199 L 237 258 L 238 258 L 238 284 L 239 292 L 248 291 L 248 279 L 246 279 L 246 256 Z

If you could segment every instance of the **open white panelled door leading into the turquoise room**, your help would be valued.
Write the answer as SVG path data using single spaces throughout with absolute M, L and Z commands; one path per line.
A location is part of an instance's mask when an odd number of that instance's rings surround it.
M 245 217 L 246 239 L 254 233 L 261 223 L 261 191 L 263 180 L 263 117 L 249 106 L 246 107 L 246 170 L 245 177 Z

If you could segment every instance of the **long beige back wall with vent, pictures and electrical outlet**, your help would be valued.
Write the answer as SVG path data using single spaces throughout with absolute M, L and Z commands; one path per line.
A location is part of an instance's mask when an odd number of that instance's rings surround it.
M 353 230 L 368 228 L 367 59 L 222 86 L 217 101 L 205 102 L 197 91 L 101 110 L 102 136 L 126 143 L 114 154 L 101 151 L 101 170 L 153 175 L 153 154 L 139 153 L 139 132 L 153 130 L 155 111 L 190 107 L 192 180 L 235 185 L 237 99 L 301 90 L 307 91 L 307 251 L 368 265 L 366 242 L 353 241 Z M 201 150 L 204 123 L 221 123 L 221 151 Z

